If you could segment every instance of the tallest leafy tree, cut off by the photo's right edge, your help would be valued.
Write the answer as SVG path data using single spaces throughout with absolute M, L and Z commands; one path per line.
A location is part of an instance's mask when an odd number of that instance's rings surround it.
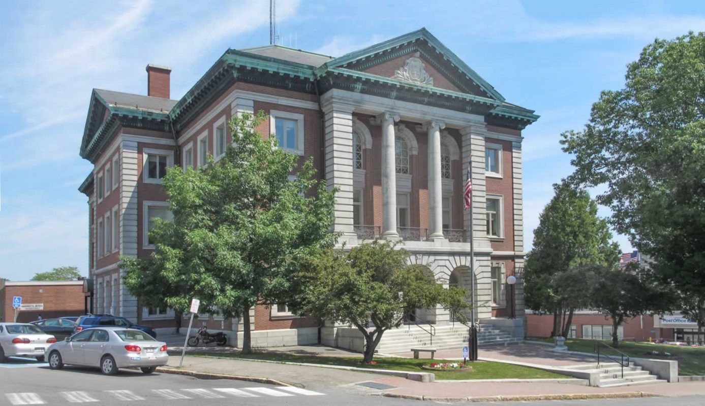
M 603 91 L 582 131 L 563 133 L 574 184 L 602 186 L 611 224 L 653 258 L 705 325 L 705 33 L 656 39 Z

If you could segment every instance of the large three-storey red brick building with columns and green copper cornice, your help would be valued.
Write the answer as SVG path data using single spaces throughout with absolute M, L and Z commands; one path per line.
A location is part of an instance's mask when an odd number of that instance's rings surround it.
M 333 229 L 341 243 L 403 239 L 410 261 L 429 267 L 439 284 L 473 292 L 477 318 L 523 336 L 522 317 L 505 318 L 505 279 L 522 267 L 521 132 L 538 116 L 506 102 L 427 30 L 340 58 L 283 46 L 228 49 L 178 100 L 169 99 L 170 72 L 147 66 L 148 96 L 91 95 L 80 155 L 94 170 L 80 191 L 88 196 L 94 310 L 173 325 L 171 310 L 141 307 L 130 295 L 118 257 L 152 253 L 149 219 L 169 216 L 160 185 L 166 167 L 203 165 L 207 155 L 217 160 L 231 142 L 228 120 L 264 110 L 271 118 L 259 131 L 276 136 L 300 162 L 313 158 L 318 176 L 340 189 Z M 462 207 L 470 158 L 472 219 Z M 519 316 L 521 293 L 519 282 Z M 285 306 L 257 306 L 250 314 L 254 345 L 318 339 L 317 323 Z M 450 322 L 441 308 L 416 316 L 436 328 Z M 238 324 L 217 316 L 200 321 L 225 331 Z M 357 345 L 341 326 L 321 336 Z

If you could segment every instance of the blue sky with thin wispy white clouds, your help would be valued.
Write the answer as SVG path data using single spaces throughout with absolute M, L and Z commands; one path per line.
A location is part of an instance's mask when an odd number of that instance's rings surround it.
M 622 86 L 645 44 L 705 30 L 700 1 L 575 3 L 278 0 L 278 43 L 340 56 L 427 27 L 508 101 L 537 110 L 524 132 L 528 250 L 551 185 L 571 172 L 560 132 Z M 91 170 L 78 156 L 91 89 L 145 94 L 157 63 L 173 69 L 178 99 L 228 47 L 269 43 L 269 1 L 0 0 L 0 38 L 0 277 L 87 274 L 76 189 Z

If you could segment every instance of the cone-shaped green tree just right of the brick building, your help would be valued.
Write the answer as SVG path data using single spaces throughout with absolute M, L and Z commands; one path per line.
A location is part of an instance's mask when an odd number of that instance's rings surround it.
M 565 337 L 573 313 L 589 301 L 586 290 L 575 288 L 592 278 L 581 267 L 615 264 L 619 249 L 587 191 L 565 182 L 553 189 L 556 195 L 539 215 L 534 248 L 527 254 L 524 290 L 527 307 L 553 314 L 553 334 Z

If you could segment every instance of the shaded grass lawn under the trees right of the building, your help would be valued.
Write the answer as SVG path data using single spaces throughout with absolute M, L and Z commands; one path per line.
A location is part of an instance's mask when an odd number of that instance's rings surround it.
M 541 341 L 553 343 L 553 338 L 541 338 Z M 568 350 L 580 351 L 581 353 L 593 353 L 596 340 L 583 340 L 580 338 L 568 338 L 565 340 L 565 345 Z M 607 345 L 612 345 L 612 341 L 601 341 Z M 705 347 L 680 347 L 678 345 L 667 344 L 651 344 L 651 343 L 634 343 L 632 341 L 622 341 L 617 348 L 621 352 L 630 357 L 654 358 L 656 360 L 676 360 L 678 361 L 679 375 L 705 375 Z M 651 351 L 659 353 L 670 353 L 675 357 L 658 357 L 649 355 Z M 615 351 L 601 346 L 601 353 L 608 355 L 619 355 Z

